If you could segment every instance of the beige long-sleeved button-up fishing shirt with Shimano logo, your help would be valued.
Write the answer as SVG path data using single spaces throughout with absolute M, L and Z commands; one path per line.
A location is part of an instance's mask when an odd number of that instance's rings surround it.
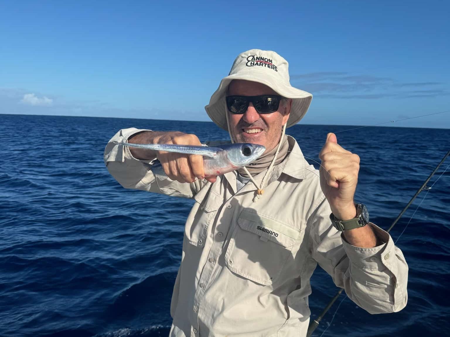
M 108 143 L 108 171 L 125 188 L 196 202 L 185 224 L 181 265 L 171 301 L 171 337 L 306 336 L 310 277 L 319 263 L 347 296 L 370 313 L 399 311 L 407 301 L 408 266 L 391 236 L 374 248 L 347 243 L 331 225 L 319 171 L 288 137 L 288 157 L 275 166 L 264 194 L 252 202 L 252 182 L 236 191 L 236 172 L 182 184 L 155 176 L 126 141 Z M 254 178 L 259 184 L 264 172 Z

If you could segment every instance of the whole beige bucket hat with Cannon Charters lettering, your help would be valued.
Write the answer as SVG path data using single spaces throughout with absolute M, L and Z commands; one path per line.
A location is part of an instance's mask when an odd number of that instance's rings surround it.
M 291 115 L 286 127 L 297 124 L 311 104 L 312 95 L 309 92 L 294 88 L 289 83 L 288 61 L 270 50 L 250 49 L 236 57 L 229 75 L 220 81 L 219 88 L 205 106 L 208 116 L 224 130 L 228 130 L 225 96 L 229 83 L 234 79 L 259 82 L 280 96 L 292 98 Z

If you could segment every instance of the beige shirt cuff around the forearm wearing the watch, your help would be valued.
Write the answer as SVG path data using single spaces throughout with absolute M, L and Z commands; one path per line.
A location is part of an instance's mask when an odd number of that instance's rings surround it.
M 375 235 L 384 242 L 383 245 L 373 248 L 356 247 L 345 240 L 343 233 L 341 234 L 342 245 L 351 263 L 356 266 L 369 269 L 384 269 L 395 258 L 394 241 L 389 233 L 374 223 L 369 223 L 368 225 L 374 230 Z

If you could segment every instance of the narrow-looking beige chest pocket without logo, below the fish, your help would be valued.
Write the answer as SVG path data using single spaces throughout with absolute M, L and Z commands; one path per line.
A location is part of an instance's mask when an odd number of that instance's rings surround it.
M 208 228 L 223 202 L 223 197 L 211 188 L 202 188 L 194 199 L 195 204 L 184 227 L 184 236 L 191 245 L 203 246 Z

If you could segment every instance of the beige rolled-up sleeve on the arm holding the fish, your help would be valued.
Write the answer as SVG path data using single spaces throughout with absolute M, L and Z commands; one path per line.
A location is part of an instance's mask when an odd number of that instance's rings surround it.
M 192 198 L 205 184 L 196 180 L 192 184 L 180 183 L 166 175 L 154 175 L 151 167 L 156 160 L 139 160 L 132 156 L 127 146 L 115 142 L 127 142 L 128 138 L 147 129 L 130 127 L 121 129 L 109 140 L 103 153 L 103 160 L 109 173 L 124 188 L 140 189 L 175 197 Z

